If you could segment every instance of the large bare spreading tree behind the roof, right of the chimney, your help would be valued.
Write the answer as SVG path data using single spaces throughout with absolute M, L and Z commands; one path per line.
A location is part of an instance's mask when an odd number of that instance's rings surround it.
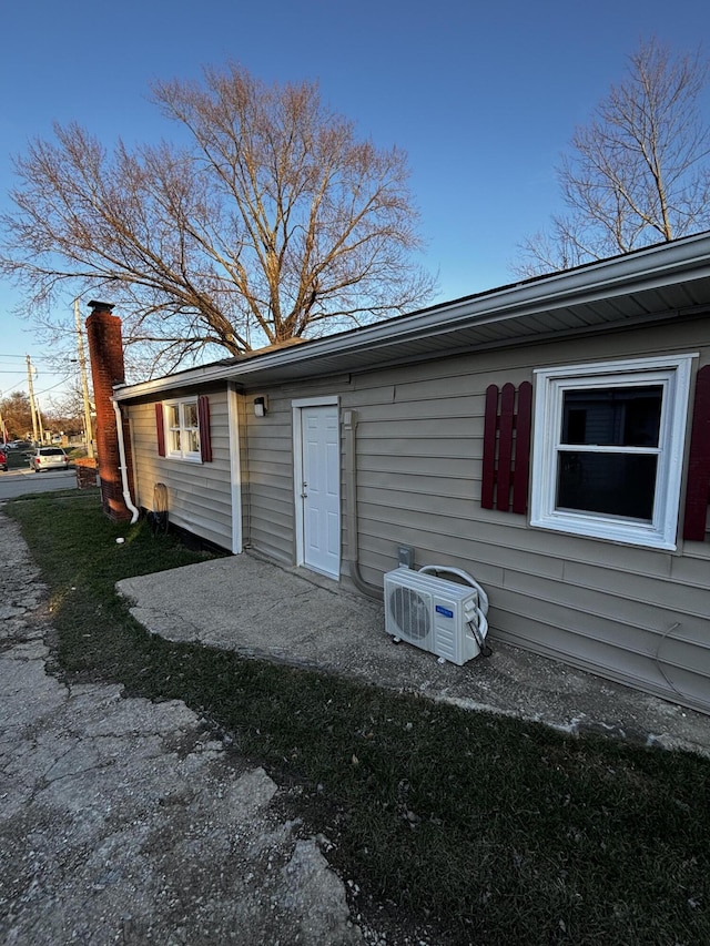
M 426 301 L 404 153 L 358 141 L 317 85 L 266 87 L 230 64 L 158 83 L 153 100 L 185 146 L 110 154 L 55 125 L 17 160 L 0 269 L 34 312 L 65 283 L 110 292 L 128 339 L 165 370 Z

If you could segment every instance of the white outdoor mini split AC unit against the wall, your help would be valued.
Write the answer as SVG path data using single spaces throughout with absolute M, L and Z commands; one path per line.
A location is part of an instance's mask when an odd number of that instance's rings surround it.
M 448 571 L 468 584 L 426 573 Z M 459 667 L 483 651 L 489 653 L 488 599 L 480 586 L 458 569 L 427 566 L 413 571 L 397 568 L 385 574 L 385 631 L 395 640 L 435 653 Z

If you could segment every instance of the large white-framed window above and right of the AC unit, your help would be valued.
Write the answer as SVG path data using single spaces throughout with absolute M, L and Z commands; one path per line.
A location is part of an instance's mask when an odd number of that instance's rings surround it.
M 531 526 L 676 548 L 692 357 L 535 373 Z

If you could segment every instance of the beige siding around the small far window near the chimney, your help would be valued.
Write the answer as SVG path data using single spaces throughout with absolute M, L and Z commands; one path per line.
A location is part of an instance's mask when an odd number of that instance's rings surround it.
M 187 395 L 185 395 L 187 396 Z M 210 391 L 210 464 L 158 456 L 155 405 L 129 407 L 138 505 L 153 508 L 156 482 L 168 487 L 170 521 L 225 549 L 232 548 L 232 491 L 226 391 Z

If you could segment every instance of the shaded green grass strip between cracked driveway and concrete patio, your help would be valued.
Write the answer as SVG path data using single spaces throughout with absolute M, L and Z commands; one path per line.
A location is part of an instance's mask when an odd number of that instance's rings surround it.
M 204 560 L 97 491 L 11 501 L 74 679 L 181 699 L 291 785 L 363 902 L 452 944 L 710 943 L 710 762 L 151 635 L 122 578 Z M 118 546 L 115 538 L 125 536 Z

